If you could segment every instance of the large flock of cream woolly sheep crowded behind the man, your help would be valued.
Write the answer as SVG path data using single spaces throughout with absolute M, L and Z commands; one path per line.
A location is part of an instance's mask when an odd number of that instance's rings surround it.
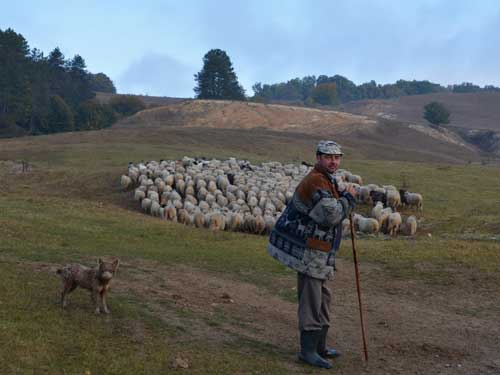
M 143 211 L 165 220 L 215 231 L 267 234 L 310 169 L 306 163 L 254 165 L 235 158 L 184 157 L 129 163 L 121 186 L 134 189 L 134 200 Z M 357 231 L 415 234 L 416 217 L 403 218 L 396 209 L 402 204 L 422 209 L 420 194 L 398 191 L 394 186 L 362 185 L 361 177 L 347 170 L 337 171 L 336 180 L 340 190 L 353 185 L 360 204 L 373 205 L 372 217 L 354 215 Z M 349 225 L 344 220 L 344 233 L 349 233 Z

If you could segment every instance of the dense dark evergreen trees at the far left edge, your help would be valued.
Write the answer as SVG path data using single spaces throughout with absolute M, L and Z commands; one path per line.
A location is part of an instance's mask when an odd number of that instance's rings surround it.
M 48 56 L 12 29 L 0 29 L 0 137 L 93 130 L 143 109 L 133 96 L 96 100 L 116 93 L 104 73 L 87 71 L 80 55 L 66 59 L 56 47 Z

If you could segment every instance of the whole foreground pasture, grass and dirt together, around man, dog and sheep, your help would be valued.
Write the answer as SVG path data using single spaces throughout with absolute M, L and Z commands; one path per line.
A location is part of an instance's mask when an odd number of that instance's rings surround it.
M 163 222 L 141 214 L 131 193 L 119 189 L 129 161 L 184 155 L 311 161 L 313 138 L 275 135 L 264 141 L 243 132 L 236 139 L 236 132 L 210 130 L 210 136 L 198 135 L 205 142 L 187 142 L 186 131 L 170 129 L 135 141 L 124 130 L 0 141 L 1 374 L 315 373 L 294 361 L 294 274 L 267 255 L 265 237 Z M 286 152 L 292 148 L 293 153 Z M 27 173 L 20 169 L 21 160 L 30 163 Z M 376 353 L 372 367 L 360 364 L 355 322 L 346 323 L 347 331 L 340 329 L 338 335 L 353 337 L 346 339 L 337 372 L 500 370 L 490 358 L 500 333 L 478 344 L 481 356 L 463 354 L 461 367 L 449 370 L 446 363 L 458 358 L 450 353 L 462 353 L 461 344 L 452 350 L 408 335 L 408 342 L 418 341 L 420 349 L 414 350 L 401 338 L 394 339 L 402 345 L 397 347 L 382 334 L 375 338 L 390 313 L 375 300 L 389 297 L 391 303 L 401 299 L 405 307 L 394 308 L 401 314 L 412 303 L 435 304 L 450 319 L 481 319 L 486 332 L 498 333 L 500 170 L 349 157 L 343 167 L 367 183 L 401 185 L 404 180 L 423 194 L 424 210 L 417 213 L 422 225 L 415 238 L 358 240 L 368 311 L 379 317 L 369 321 Z M 110 295 L 112 314 L 93 315 L 81 290 L 62 311 L 55 268 L 69 262 L 91 265 L 99 256 L 122 262 Z M 349 241 L 340 257 L 347 269 Z M 342 285 L 346 276 L 339 272 Z M 235 303 L 221 302 L 219 290 L 230 291 Z M 394 291 L 400 293 L 394 296 Z M 354 309 L 343 293 L 338 293 L 340 304 Z M 267 300 L 276 310 L 268 310 Z M 342 314 L 339 321 L 347 320 Z M 432 330 L 443 324 L 432 314 L 428 319 L 431 328 L 424 339 L 430 340 Z M 394 329 L 394 335 L 405 335 Z M 419 331 L 417 325 L 414 330 Z M 441 357 L 436 359 L 436 353 Z M 176 369 L 176 358 L 189 368 Z

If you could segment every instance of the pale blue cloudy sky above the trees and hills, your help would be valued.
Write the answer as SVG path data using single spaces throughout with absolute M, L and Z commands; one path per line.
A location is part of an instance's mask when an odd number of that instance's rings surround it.
M 119 93 L 192 97 L 212 48 L 247 95 L 320 74 L 500 86 L 496 0 L 16 0 L 1 6 L 9 27 L 45 54 L 81 55 Z

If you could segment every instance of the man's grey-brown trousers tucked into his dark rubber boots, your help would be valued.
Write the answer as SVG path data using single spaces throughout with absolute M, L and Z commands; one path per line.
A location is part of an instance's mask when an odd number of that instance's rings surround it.
M 299 330 L 314 331 L 330 326 L 332 293 L 326 286 L 326 280 L 297 273 L 297 293 Z

